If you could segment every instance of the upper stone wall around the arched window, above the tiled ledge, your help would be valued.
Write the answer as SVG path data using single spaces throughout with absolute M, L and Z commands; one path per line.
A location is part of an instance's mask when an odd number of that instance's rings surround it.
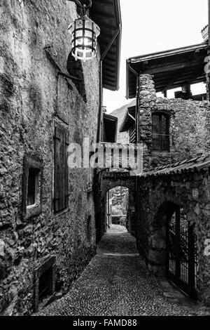
M 144 170 L 210 152 L 210 111 L 207 101 L 157 98 L 153 77 L 139 77 L 139 143 L 144 143 Z M 170 152 L 152 150 L 152 114 L 170 118 Z

